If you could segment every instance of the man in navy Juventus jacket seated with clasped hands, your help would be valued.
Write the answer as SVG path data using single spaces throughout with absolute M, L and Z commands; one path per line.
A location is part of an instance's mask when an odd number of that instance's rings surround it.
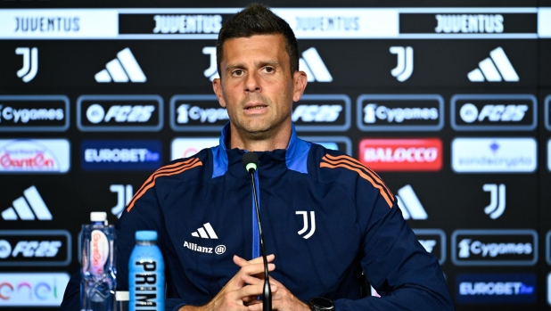
M 453 309 L 437 259 L 380 177 L 297 138 L 292 102 L 307 77 L 289 25 L 251 4 L 220 30 L 217 55 L 213 88 L 230 122 L 218 147 L 160 168 L 129 202 L 117 224 L 119 288 L 128 287 L 134 233 L 156 230 L 167 310 L 262 310 L 264 266 L 242 165 L 255 151 L 274 310 L 309 310 L 315 297 L 342 311 Z M 360 297 L 362 269 L 382 298 Z

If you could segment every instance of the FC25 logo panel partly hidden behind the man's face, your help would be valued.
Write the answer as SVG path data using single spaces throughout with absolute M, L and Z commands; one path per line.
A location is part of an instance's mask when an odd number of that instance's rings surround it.
M 350 105 L 347 95 L 303 95 L 294 102 L 291 118 L 298 131 L 344 132 L 350 128 Z

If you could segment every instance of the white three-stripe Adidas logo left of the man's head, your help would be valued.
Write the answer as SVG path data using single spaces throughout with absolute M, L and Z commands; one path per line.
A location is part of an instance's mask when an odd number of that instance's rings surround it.
M 127 83 L 128 79 L 135 83 L 147 81 L 144 71 L 129 48 L 117 53 L 117 58 L 109 61 L 105 69 L 96 73 L 94 78 L 98 83 Z

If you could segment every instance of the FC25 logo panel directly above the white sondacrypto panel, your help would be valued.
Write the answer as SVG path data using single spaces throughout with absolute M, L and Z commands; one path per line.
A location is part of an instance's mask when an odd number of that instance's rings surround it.
M 451 127 L 456 131 L 531 131 L 538 125 L 538 102 L 531 94 L 456 94 Z

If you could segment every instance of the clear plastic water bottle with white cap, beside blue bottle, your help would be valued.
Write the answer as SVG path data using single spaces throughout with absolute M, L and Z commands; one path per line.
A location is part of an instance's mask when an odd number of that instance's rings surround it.
M 116 266 L 115 230 L 107 225 L 107 213 L 90 213 L 92 224 L 82 225 L 80 309 L 114 311 Z

